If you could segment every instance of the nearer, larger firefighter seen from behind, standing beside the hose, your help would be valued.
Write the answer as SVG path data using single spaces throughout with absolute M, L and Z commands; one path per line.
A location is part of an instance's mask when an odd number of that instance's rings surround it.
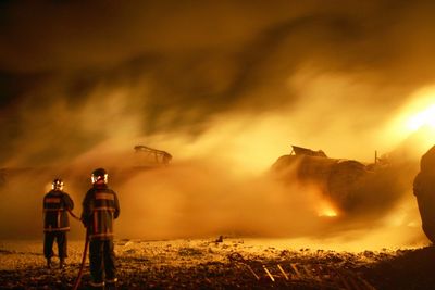
M 113 219 L 120 215 L 116 193 L 108 187 L 108 173 L 98 168 L 91 175 L 92 187 L 83 201 L 82 220 L 89 235 L 90 285 L 114 286 L 116 261 L 113 245 Z

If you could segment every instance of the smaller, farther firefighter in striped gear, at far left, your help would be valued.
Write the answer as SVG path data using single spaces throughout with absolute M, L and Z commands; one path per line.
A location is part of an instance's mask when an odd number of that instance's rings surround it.
M 55 178 L 51 190 L 44 197 L 44 255 L 47 267 L 51 268 L 54 239 L 58 243 L 60 268 L 65 265 L 66 232 L 70 230 L 67 211 L 72 211 L 74 202 L 66 192 L 63 192 L 63 181 Z

